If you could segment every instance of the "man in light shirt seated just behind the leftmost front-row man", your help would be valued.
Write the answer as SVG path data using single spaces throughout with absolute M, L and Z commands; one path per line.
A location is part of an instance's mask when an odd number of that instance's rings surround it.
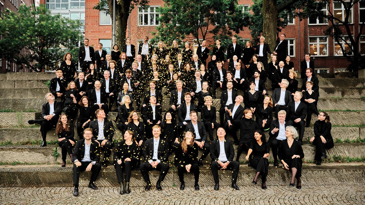
M 110 154 L 114 148 L 114 127 L 112 121 L 106 118 L 103 109 L 97 109 L 95 116 L 97 119 L 90 122 L 89 128 L 93 131 L 93 140 L 97 141 L 104 150 L 104 158 L 101 164 L 103 167 L 107 167 Z

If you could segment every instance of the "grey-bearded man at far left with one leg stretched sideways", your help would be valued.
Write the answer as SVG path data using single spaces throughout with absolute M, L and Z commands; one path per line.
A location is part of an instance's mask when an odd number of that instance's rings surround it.
M 42 119 L 28 120 L 29 124 L 41 124 L 43 140 L 41 147 L 47 146 L 47 130 L 54 129 L 56 127 L 59 115 L 61 115 L 62 112 L 62 103 L 54 101 L 54 95 L 52 93 L 47 93 L 45 98 L 48 102 L 42 105 Z

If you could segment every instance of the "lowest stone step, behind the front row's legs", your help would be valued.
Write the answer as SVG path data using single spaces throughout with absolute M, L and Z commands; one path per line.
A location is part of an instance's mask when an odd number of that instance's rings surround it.
M 218 171 L 219 185 L 231 186 L 231 171 Z M 153 186 L 157 182 L 159 172 L 151 171 L 150 178 Z M 246 189 L 253 188 L 252 179 L 255 170 L 247 166 L 241 166 L 238 172 L 237 185 L 245 186 Z M 306 186 L 343 186 L 343 185 L 365 185 L 364 182 L 365 166 L 349 166 L 343 165 L 322 165 L 322 166 L 303 166 L 301 185 Z M 57 177 L 54 177 L 57 176 Z M 87 187 L 91 173 L 82 172 L 80 175 L 80 187 Z M 72 166 L 67 164 L 66 167 L 60 165 L 47 166 L 1 166 L 0 167 L 0 186 L 1 187 L 72 187 Z M 274 168 L 269 166 L 266 186 L 288 186 L 291 173 L 283 168 Z M 193 173 L 184 175 L 185 185 L 191 187 L 194 184 Z M 258 179 L 261 183 L 261 177 Z M 98 187 L 118 187 L 115 169 L 112 166 L 101 168 L 100 174 L 95 182 Z M 200 168 L 199 175 L 200 186 L 214 186 L 211 170 L 204 165 Z M 141 172 L 136 169 L 131 173 L 130 186 L 133 192 L 134 187 L 144 187 L 146 183 L 143 181 Z M 162 182 L 163 187 L 180 186 L 177 169 L 169 169 L 165 180 Z M 242 187 L 241 187 L 242 188 Z

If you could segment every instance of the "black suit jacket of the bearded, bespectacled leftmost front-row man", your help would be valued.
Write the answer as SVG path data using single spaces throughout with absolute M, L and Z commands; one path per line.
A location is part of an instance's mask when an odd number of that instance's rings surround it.
M 80 139 L 77 141 L 75 148 L 72 154 L 72 161 L 79 160 L 81 162 L 84 159 L 85 154 L 85 139 Z M 90 144 L 90 159 L 92 162 L 96 161 L 99 162 L 100 160 L 100 151 L 99 151 L 99 144 L 95 141 L 91 140 Z

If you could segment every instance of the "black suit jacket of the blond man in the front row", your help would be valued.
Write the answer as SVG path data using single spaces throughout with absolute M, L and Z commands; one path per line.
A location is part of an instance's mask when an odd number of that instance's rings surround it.
M 143 147 L 142 155 L 143 158 L 145 158 L 146 162 L 152 160 L 153 158 L 153 140 L 154 138 L 147 139 L 145 146 Z M 158 149 L 157 149 L 158 160 L 161 160 L 161 162 L 166 162 L 169 158 L 168 152 L 169 152 L 169 144 L 160 137 L 160 142 L 158 143 Z

